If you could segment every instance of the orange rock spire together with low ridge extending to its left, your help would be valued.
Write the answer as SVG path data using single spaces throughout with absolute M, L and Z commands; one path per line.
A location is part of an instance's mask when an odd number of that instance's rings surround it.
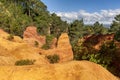
M 45 55 L 58 54 L 60 56 L 60 62 L 72 60 L 73 51 L 67 33 L 61 34 L 58 39 L 57 48 L 40 50 L 40 53 Z

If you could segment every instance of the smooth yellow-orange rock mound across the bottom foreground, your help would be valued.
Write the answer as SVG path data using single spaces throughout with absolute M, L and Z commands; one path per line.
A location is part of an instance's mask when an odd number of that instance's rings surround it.
M 41 66 L 0 66 L 0 80 L 118 80 L 88 61 Z

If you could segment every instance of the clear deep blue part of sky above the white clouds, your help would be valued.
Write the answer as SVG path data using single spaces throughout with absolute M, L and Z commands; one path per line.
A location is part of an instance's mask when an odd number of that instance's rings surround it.
M 78 11 L 80 9 L 89 12 L 102 9 L 120 8 L 120 0 L 42 0 L 49 11 Z

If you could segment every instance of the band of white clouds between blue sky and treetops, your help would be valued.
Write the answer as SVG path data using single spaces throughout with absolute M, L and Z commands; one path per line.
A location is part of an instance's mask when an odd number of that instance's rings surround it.
M 80 10 L 78 12 L 56 12 L 63 20 L 72 22 L 73 20 L 80 20 L 83 18 L 85 24 L 93 24 L 99 21 L 103 24 L 111 24 L 114 17 L 120 14 L 120 9 L 115 10 L 101 10 L 99 12 L 89 13 L 85 10 Z

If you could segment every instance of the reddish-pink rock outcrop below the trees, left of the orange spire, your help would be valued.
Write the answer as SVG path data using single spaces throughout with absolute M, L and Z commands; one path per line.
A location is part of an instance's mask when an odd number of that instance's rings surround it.
M 23 39 L 32 46 L 35 46 L 35 41 L 39 43 L 39 47 L 42 47 L 46 43 L 45 36 L 38 35 L 37 28 L 34 26 L 29 26 L 26 28 L 23 34 Z

